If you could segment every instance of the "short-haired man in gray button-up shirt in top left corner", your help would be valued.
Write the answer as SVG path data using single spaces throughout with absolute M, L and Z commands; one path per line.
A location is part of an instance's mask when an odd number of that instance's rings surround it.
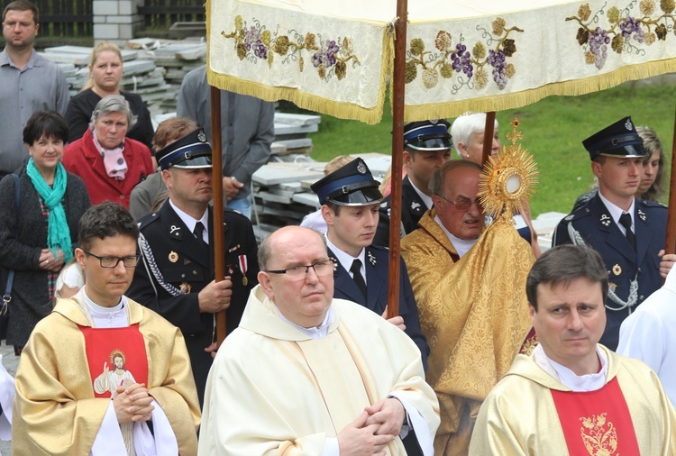
M 17 0 L 3 12 L 5 50 L 0 52 L 0 178 L 13 173 L 28 159 L 23 127 L 36 111 L 66 113 L 69 87 L 63 71 L 33 49 L 40 29 L 38 7 Z

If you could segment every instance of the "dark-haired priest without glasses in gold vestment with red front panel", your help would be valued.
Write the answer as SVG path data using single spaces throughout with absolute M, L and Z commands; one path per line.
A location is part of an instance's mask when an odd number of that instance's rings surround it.
M 484 401 L 470 455 L 676 454 L 676 413 L 657 375 L 598 344 L 607 287 L 589 246 L 535 261 L 526 295 L 540 344 Z

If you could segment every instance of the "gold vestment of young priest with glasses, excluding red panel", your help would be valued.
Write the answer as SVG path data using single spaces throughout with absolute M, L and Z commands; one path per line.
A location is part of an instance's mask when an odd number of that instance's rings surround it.
M 148 355 L 148 393 L 169 419 L 180 454 L 196 454 L 200 411 L 180 331 L 128 299 Z M 59 299 L 35 326 L 16 372 L 14 454 L 87 456 L 110 398 L 95 397 L 79 326 L 90 326 L 73 299 Z

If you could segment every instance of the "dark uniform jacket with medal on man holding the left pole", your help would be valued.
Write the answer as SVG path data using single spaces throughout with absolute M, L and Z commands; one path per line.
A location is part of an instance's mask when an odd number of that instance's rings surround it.
M 209 207 L 209 224 L 212 222 Z M 154 277 L 149 258 L 144 255 L 134 272 L 132 286 L 127 292 L 143 306 L 150 307 L 178 326 L 186 338 L 200 405 L 204 399 L 206 377 L 212 358 L 205 348 L 214 337 L 214 314 L 199 312 L 197 295 L 215 278 L 214 230 L 209 229 L 209 251 L 188 231 L 178 214 L 167 201 L 160 211 L 141 219 L 143 237 L 151 246 L 152 256 L 164 280 L 172 287 L 183 288 L 185 294 L 173 296 Z M 226 311 L 226 331 L 240 324 L 244 306 L 251 288 L 258 284 L 258 246 L 251 222 L 244 215 L 230 209 L 224 210 L 225 274 L 232 277 L 233 296 Z M 240 256 L 247 259 L 247 285 L 243 284 Z

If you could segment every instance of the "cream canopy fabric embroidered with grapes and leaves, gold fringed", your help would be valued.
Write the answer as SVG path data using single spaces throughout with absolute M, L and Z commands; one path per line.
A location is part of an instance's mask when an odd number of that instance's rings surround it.
M 377 123 L 396 0 L 209 0 L 212 86 Z M 408 2 L 405 120 L 676 71 L 674 0 Z

